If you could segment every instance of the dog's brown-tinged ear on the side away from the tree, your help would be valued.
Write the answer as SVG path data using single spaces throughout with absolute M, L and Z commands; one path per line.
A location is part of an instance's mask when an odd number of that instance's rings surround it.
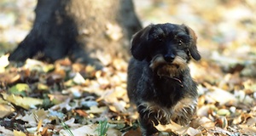
M 185 30 L 189 33 L 189 36 L 192 38 L 192 41 L 189 45 L 189 52 L 191 54 L 191 56 L 195 59 L 195 60 L 200 60 L 201 59 L 201 55 L 199 54 L 197 48 L 196 48 L 196 35 L 195 35 L 195 31 L 193 31 L 189 26 L 185 26 L 182 25 L 183 27 L 185 27 Z

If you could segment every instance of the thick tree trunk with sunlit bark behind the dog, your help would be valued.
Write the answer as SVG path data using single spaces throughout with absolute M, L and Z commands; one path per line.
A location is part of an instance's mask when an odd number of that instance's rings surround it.
M 96 54 L 129 56 L 132 34 L 142 28 L 131 0 L 38 0 L 30 33 L 9 60 L 73 61 L 100 65 Z

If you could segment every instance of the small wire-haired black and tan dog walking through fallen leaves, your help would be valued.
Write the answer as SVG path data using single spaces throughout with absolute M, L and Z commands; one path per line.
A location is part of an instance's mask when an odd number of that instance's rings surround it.
M 144 136 L 158 124 L 188 125 L 197 106 L 197 84 L 189 60 L 200 60 L 195 32 L 185 25 L 149 25 L 131 39 L 127 94 L 137 106 Z

